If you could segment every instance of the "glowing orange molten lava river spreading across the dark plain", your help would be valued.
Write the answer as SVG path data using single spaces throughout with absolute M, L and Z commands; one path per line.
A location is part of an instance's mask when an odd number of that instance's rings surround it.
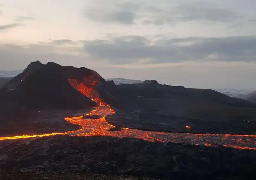
M 99 106 L 96 107 L 95 110 L 92 110 L 91 113 L 86 115 L 88 115 L 89 117 L 93 115 L 100 115 L 102 116 L 102 118 L 84 119 L 83 116 L 65 118 L 69 123 L 82 126 L 82 129 L 80 130 L 33 136 L 23 135 L 2 138 L 0 137 L 0 140 L 68 134 L 71 136 L 112 136 L 121 138 L 130 137 L 147 141 L 175 142 L 204 146 L 227 146 L 236 149 L 256 150 L 256 135 L 166 133 L 155 131 L 141 131 L 128 128 L 122 128 L 121 131 L 110 131 L 110 129 L 115 126 L 108 124 L 105 120 L 105 116 L 111 115 L 113 113 L 114 111 L 110 108 L 110 106 Z

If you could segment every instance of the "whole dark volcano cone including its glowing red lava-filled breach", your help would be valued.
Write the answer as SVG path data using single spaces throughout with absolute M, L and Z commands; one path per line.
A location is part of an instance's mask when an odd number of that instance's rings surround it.
M 105 82 L 97 72 L 84 67 L 32 62 L 0 90 L 1 109 L 94 107 L 97 106 L 97 101 L 101 101 L 97 92 L 97 84 L 100 81 L 103 81 L 101 84 Z

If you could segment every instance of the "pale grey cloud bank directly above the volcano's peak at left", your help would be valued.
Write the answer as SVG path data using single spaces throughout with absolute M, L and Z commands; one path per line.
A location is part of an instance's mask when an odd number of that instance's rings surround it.
M 70 47 L 57 49 L 56 52 L 54 48 L 50 45 L 40 44 L 31 44 L 26 47 L 0 44 L 1 69 L 23 69 L 36 60 L 42 63 L 54 61 L 58 64 L 77 65 L 79 67 L 87 62 L 84 56 L 78 54 L 80 49 Z M 68 53 L 74 51 L 78 52 L 77 55 Z

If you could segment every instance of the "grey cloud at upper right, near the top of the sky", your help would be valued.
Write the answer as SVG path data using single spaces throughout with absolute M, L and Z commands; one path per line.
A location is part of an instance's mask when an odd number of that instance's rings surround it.
M 210 3 L 182 3 L 176 6 L 166 7 L 165 9 L 151 6 L 147 8 L 147 11 L 151 17 L 150 20 L 154 25 L 188 21 L 227 23 L 244 18 L 243 16 L 238 15 L 235 11 L 219 8 L 216 4 Z

